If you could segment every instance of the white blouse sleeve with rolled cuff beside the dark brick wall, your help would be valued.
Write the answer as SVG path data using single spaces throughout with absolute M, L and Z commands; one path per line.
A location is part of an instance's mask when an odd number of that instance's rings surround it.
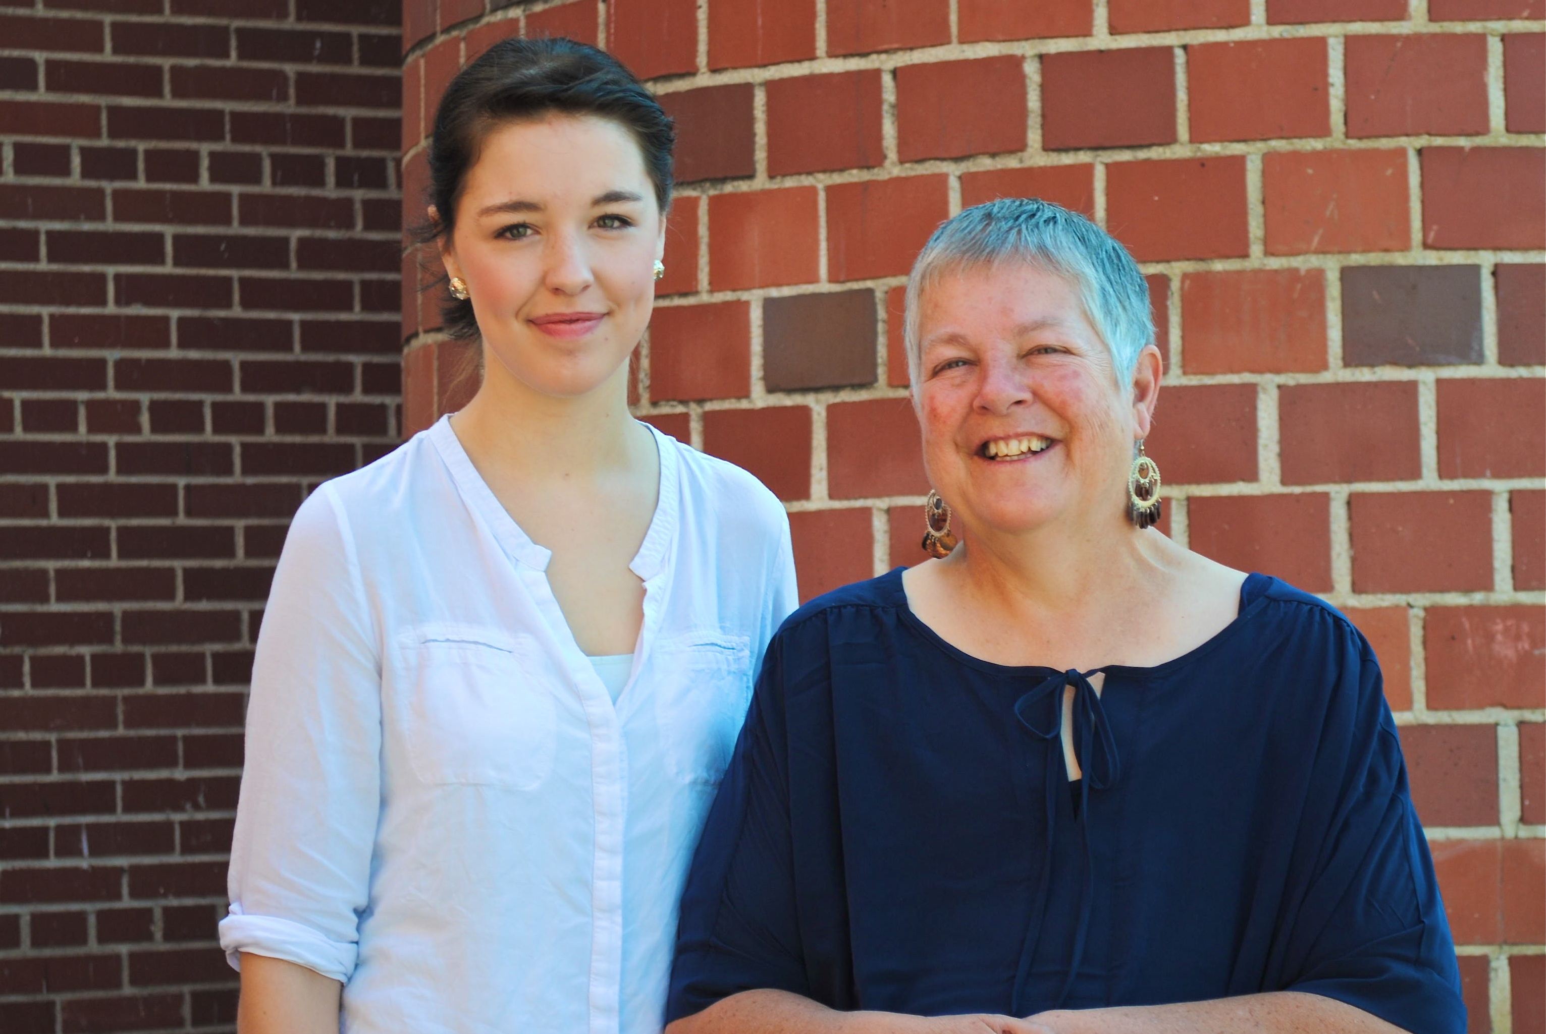
M 226 958 L 348 983 L 380 815 L 380 649 L 329 485 L 291 524 L 263 615 L 230 853 Z

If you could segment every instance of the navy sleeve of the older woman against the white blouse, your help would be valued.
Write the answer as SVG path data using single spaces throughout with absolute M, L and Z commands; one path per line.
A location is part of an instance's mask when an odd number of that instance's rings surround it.
M 781 640 L 762 663 L 682 895 L 666 1022 L 741 991 L 809 995 L 801 958 Z

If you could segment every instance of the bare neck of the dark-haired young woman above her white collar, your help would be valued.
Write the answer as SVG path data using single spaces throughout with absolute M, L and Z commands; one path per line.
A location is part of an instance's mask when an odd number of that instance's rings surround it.
M 478 394 L 451 417 L 468 456 L 526 484 L 595 479 L 637 468 L 654 445 L 628 411 L 628 363 L 583 396 L 543 394 L 498 362 Z

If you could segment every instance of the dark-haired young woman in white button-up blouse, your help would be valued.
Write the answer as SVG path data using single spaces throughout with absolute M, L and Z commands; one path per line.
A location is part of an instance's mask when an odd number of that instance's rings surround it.
M 258 640 L 221 944 L 243 1034 L 656 1034 L 677 898 L 788 522 L 628 413 L 671 121 L 507 40 L 430 158 L 473 400 L 295 515 Z

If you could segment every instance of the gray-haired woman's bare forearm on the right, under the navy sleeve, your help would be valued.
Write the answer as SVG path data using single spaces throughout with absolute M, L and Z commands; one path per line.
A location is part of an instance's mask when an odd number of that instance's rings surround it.
M 1031 1017 L 1056 1034 L 1402 1034 L 1345 1002 L 1299 991 Z

